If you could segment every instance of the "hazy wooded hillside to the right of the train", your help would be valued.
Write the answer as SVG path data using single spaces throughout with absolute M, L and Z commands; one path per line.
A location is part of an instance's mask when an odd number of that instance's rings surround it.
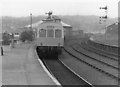
M 105 27 L 105 23 L 99 24 L 98 16 L 63 16 L 62 20 L 73 26 L 74 29 L 84 30 L 85 32 L 97 33 Z M 116 19 L 108 19 L 107 25 L 115 22 Z

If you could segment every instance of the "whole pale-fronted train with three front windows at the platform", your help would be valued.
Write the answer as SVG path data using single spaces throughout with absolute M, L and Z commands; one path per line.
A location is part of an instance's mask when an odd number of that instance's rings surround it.
M 57 16 L 52 12 L 37 26 L 36 40 L 37 49 L 45 55 L 59 55 L 64 46 L 64 26 Z

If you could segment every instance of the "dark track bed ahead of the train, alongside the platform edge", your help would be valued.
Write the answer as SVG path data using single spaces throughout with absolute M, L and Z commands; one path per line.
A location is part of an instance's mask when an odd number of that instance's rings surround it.
M 41 57 L 41 56 L 40 56 Z M 74 73 L 59 59 L 41 58 L 48 71 L 60 82 L 62 87 L 66 85 L 94 87 L 89 82 Z

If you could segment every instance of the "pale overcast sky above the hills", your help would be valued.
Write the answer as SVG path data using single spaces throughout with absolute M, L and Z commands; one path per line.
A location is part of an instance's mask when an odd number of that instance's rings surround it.
M 52 10 L 56 15 L 104 15 L 100 6 L 108 6 L 108 16 L 118 16 L 120 0 L 0 0 L 0 16 L 45 15 Z M 2 9 L 1 9 L 2 8 Z

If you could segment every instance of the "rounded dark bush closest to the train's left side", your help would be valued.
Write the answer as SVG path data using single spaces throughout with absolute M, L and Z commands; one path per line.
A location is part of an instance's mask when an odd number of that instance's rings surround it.
M 22 42 L 33 41 L 34 32 L 32 30 L 23 31 L 20 35 L 20 40 L 22 40 Z

